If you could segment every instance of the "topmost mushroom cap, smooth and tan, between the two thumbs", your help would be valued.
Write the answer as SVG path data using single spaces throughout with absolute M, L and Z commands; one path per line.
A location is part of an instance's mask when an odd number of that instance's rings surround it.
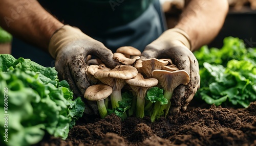
M 127 58 L 131 58 L 131 56 L 141 56 L 141 52 L 133 46 L 121 46 L 116 52 L 122 53 Z

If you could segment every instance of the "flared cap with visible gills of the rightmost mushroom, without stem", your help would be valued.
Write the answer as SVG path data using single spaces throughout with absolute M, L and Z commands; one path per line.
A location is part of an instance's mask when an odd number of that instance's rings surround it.
M 172 92 L 180 84 L 187 85 L 190 78 L 185 70 L 167 71 L 167 70 L 154 70 L 152 72 L 159 84 L 166 90 Z

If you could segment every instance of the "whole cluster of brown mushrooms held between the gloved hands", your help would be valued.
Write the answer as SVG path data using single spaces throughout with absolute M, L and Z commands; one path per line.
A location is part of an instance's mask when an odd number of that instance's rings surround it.
M 84 98 L 97 102 L 101 118 L 108 115 L 106 109 L 110 107 L 109 96 L 111 108 L 119 107 L 118 102 L 122 101 L 121 89 L 126 84 L 137 96 L 136 116 L 139 118 L 144 117 L 146 91 L 154 86 L 163 88 L 163 95 L 168 100 L 168 104 L 161 105 L 160 102 L 154 104 L 154 109 L 157 110 L 152 113 L 152 121 L 159 112 L 164 111 L 165 116 L 167 115 L 174 89 L 180 84 L 188 84 L 190 80 L 188 73 L 179 70 L 172 60 L 151 58 L 142 61 L 139 60 L 140 56 L 141 52 L 137 48 L 123 46 L 113 55 L 113 59 L 122 63 L 115 68 L 108 68 L 95 59 L 88 60 L 92 65 L 86 67 L 87 75 L 94 81 L 94 85 L 87 88 Z M 126 113 L 123 116 L 127 117 Z

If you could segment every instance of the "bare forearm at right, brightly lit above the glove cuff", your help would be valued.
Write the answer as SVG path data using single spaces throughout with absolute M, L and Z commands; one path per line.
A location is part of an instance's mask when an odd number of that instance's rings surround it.
M 191 40 L 191 51 L 195 51 L 217 36 L 227 12 L 226 0 L 186 1 L 185 10 L 175 28 L 180 28 L 188 34 Z

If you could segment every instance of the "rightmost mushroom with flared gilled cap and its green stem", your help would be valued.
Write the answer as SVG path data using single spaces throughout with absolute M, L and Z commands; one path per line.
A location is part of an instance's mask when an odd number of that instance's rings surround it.
M 185 70 L 154 70 L 152 72 L 152 75 L 154 78 L 158 80 L 159 84 L 163 87 L 164 98 L 168 100 L 168 104 L 162 105 L 160 110 L 158 111 L 158 114 L 162 115 L 162 112 L 165 109 L 166 116 L 170 107 L 170 98 L 172 98 L 174 89 L 180 84 L 187 85 L 190 80 L 189 74 Z

